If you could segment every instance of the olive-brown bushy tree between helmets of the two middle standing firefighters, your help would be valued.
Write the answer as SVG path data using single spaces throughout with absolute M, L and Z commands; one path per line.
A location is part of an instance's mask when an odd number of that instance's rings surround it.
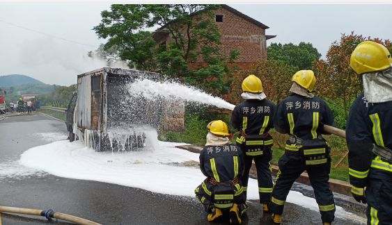
M 295 72 L 297 72 L 297 67 L 290 67 L 282 61 L 263 60 L 251 69 L 235 76 L 230 90 L 232 101 L 235 103 L 241 101 L 242 81 L 249 74 L 254 74 L 260 78 L 267 98 L 277 103 L 288 97 L 292 85 L 291 77 Z

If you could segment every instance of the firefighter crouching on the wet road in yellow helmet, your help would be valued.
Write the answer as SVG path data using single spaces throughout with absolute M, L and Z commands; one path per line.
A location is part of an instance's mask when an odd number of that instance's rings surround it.
M 241 224 L 248 209 L 240 179 L 244 172 L 242 152 L 230 144 L 225 122 L 212 121 L 207 129 L 207 142 L 200 153 L 200 169 L 207 178 L 196 188 L 196 197 L 203 203 L 208 221 L 228 213 L 231 224 Z

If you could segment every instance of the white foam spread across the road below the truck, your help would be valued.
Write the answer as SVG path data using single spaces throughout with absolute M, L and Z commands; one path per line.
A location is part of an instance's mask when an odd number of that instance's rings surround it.
M 65 178 L 115 183 L 151 192 L 194 197 L 205 176 L 196 167 L 178 166 L 198 162 L 198 153 L 175 148 L 184 143 L 159 142 L 159 150 L 125 153 L 95 152 L 81 142 L 58 141 L 22 153 L 19 163 L 34 170 Z M 249 179 L 248 199 L 258 199 L 258 185 Z M 315 199 L 290 191 L 288 202 L 318 211 Z M 365 223 L 366 219 L 336 207 L 336 216 Z

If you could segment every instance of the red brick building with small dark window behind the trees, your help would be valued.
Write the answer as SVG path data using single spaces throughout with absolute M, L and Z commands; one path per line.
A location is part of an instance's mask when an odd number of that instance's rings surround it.
M 276 37 L 265 34 L 268 26 L 227 5 L 221 5 L 219 10 L 213 12 L 221 33 L 221 51 L 226 56 L 231 49 L 240 51 L 235 65 L 247 69 L 267 58 L 267 40 Z M 165 27 L 155 31 L 152 37 L 157 44 L 168 44 L 171 41 L 170 33 Z

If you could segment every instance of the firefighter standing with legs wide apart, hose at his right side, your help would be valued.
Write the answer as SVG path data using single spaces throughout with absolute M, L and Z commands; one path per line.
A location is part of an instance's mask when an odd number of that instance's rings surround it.
M 301 70 L 292 76 L 290 96 L 277 107 L 274 126 L 279 133 L 288 133 L 285 153 L 279 159 L 271 199 L 274 223 L 281 223 L 281 215 L 292 183 L 306 170 L 315 193 L 323 224 L 334 221 L 334 195 L 329 190 L 331 158 L 329 147 L 322 138 L 322 124 L 334 125 L 331 110 L 322 99 L 312 93 L 315 75 L 311 70 Z M 324 133 L 325 134 L 325 133 Z

